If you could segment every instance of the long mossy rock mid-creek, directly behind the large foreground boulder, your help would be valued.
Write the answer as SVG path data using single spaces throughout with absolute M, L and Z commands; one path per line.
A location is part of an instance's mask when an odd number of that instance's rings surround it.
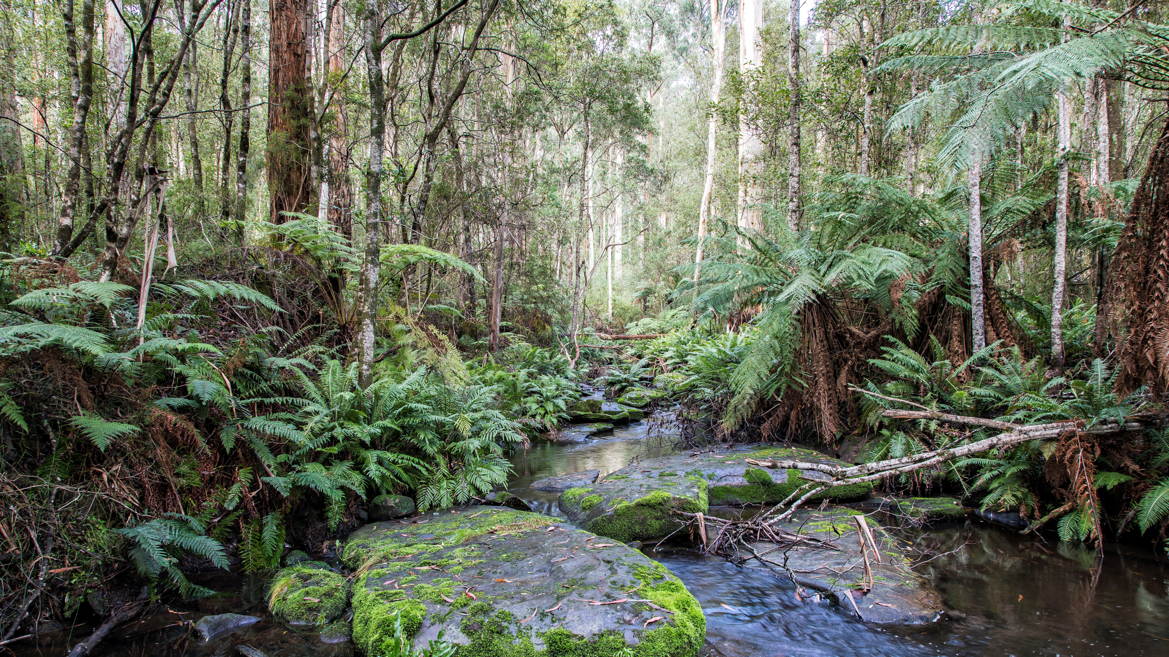
M 775 504 L 807 479 L 830 479 L 815 470 L 765 469 L 746 458 L 842 464 L 811 450 L 759 444 L 652 458 L 606 475 L 595 484 L 566 490 L 560 495 L 560 510 L 581 528 L 628 542 L 667 535 L 678 527 L 675 511 L 705 513 L 710 506 Z M 871 490 L 871 484 L 839 486 L 811 500 L 857 499 Z

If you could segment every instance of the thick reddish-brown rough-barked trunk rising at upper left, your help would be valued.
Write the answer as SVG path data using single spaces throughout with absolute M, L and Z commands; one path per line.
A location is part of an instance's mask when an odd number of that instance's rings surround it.
M 312 195 L 312 143 L 307 129 L 312 120 L 312 90 L 305 76 L 307 20 L 312 12 L 309 0 L 269 0 L 268 15 L 271 23 L 268 56 L 269 217 L 274 223 L 284 223 L 288 217 L 283 213 L 305 212 Z

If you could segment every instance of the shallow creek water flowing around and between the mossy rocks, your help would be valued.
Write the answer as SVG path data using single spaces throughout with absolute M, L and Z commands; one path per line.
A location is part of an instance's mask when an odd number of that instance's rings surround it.
M 651 422 L 642 421 L 583 443 L 541 441 L 512 457 L 516 472 L 507 487 L 533 509 L 559 516 L 558 493 L 532 491 L 530 484 L 581 470 L 611 472 L 667 451 L 653 447 L 659 441 L 648 437 L 651 429 Z M 704 655 L 711 657 L 1169 657 L 1169 561 L 1149 544 L 1109 544 L 1101 556 L 982 523 L 906 535 L 934 555 L 919 572 L 954 611 L 926 628 L 866 625 L 831 603 L 797 601 L 790 582 L 770 573 L 738 568 L 684 545 L 645 553 L 701 602 L 708 641 Z M 262 580 L 206 574 L 195 581 L 221 593 L 189 607 L 164 607 L 117 630 L 95 657 L 233 657 L 241 643 L 269 657 L 353 652 L 348 643 L 326 644 L 283 628 L 267 611 Z M 262 621 L 207 644 L 178 623 L 221 613 Z M 79 623 L 4 648 L 18 657 L 62 657 L 90 631 L 92 624 Z

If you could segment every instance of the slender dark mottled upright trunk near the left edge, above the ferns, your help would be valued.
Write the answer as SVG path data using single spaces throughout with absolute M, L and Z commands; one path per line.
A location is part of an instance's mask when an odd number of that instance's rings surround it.
M 69 159 L 69 172 L 65 175 L 64 194 L 61 199 L 61 216 L 57 221 L 57 235 L 53 241 L 53 255 L 69 257 L 88 237 L 83 230 L 74 243 L 74 220 L 77 217 L 77 203 L 81 196 L 82 150 L 87 138 L 85 120 L 89 118 L 89 109 L 94 102 L 94 35 L 96 32 L 94 0 L 83 0 L 79 35 L 74 0 L 65 0 L 62 15 L 64 16 L 68 42 L 69 88 L 74 117 L 69 129 L 69 145 L 65 151 L 65 157 Z M 89 231 L 94 230 L 95 223 L 87 223 Z

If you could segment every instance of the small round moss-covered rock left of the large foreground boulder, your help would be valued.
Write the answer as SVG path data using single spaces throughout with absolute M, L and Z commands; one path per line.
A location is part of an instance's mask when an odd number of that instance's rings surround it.
M 319 568 L 292 566 L 276 573 L 268 608 L 293 627 L 323 627 L 341 617 L 350 601 L 350 582 Z

